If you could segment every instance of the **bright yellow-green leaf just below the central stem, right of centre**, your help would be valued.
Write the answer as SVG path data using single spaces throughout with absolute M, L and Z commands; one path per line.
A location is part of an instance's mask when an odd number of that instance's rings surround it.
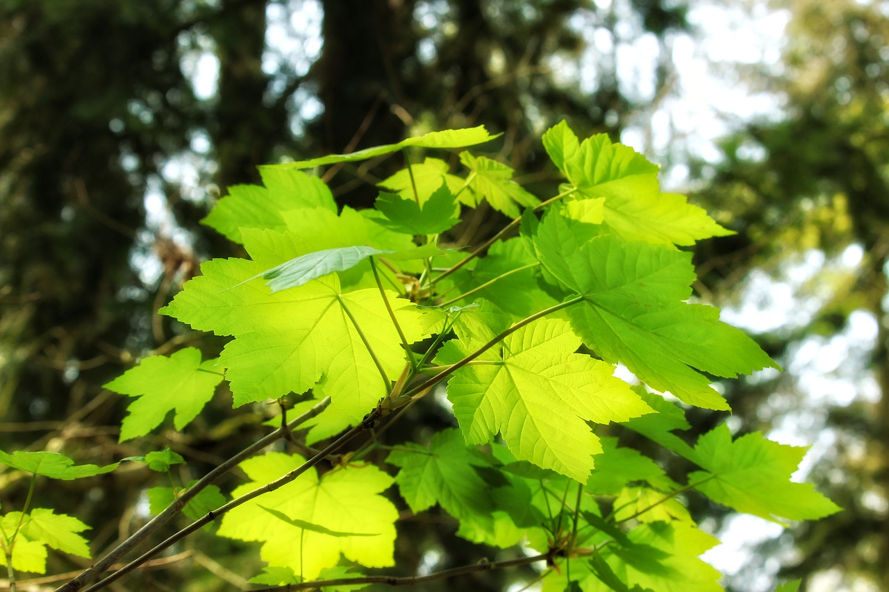
M 481 344 L 452 340 L 436 362 L 455 364 Z M 573 353 L 581 345 L 565 321 L 540 319 L 454 372 L 448 397 L 469 444 L 501 432 L 519 460 L 584 482 L 601 452 L 587 420 L 627 420 L 651 408 L 613 366 Z

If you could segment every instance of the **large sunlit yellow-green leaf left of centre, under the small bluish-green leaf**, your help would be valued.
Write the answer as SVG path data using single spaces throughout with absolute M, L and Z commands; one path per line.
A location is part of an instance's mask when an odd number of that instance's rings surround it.
M 324 412 L 335 420 L 329 428 L 361 420 L 386 394 L 380 369 L 396 375 L 405 360 L 380 291 L 342 292 L 338 275 L 331 274 L 271 293 L 260 278 L 250 278 L 291 259 L 302 242 L 270 230 L 245 230 L 244 239 L 253 261 L 204 263 L 203 276 L 189 281 L 162 312 L 202 331 L 236 336 L 220 356 L 236 406 L 316 388 L 332 397 Z M 428 334 L 425 311 L 393 292 L 386 298 L 409 343 Z

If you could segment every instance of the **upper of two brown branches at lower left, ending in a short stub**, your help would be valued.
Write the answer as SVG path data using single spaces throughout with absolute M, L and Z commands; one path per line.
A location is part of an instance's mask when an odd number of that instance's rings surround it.
M 309 409 L 308 412 L 305 412 L 300 415 L 300 417 L 292 420 L 288 424 L 288 428 L 295 428 L 305 421 L 315 417 L 318 413 L 324 411 L 324 409 L 329 404 L 330 397 L 325 397 L 320 402 L 318 402 L 318 404 Z M 175 516 L 178 516 L 182 511 L 182 508 L 185 508 L 185 505 L 188 503 L 188 501 L 192 500 L 199 492 L 204 490 L 207 485 L 212 484 L 220 476 L 224 475 L 232 468 L 235 468 L 241 461 L 251 457 L 257 452 L 260 452 L 260 450 L 262 450 L 269 444 L 275 443 L 278 439 L 281 438 L 281 436 L 281 429 L 278 428 L 274 432 L 268 434 L 268 436 L 264 436 L 247 448 L 244 448 L 243 451 L 238 452 L 235 456 L 226 460 L 217 468 L 212 469 L 212 471 L 207 473 L 196 484 L 189 487 L 188 491 L 184 492 L 180 496 L 180 498 L 167 506 L 167 508 L 164 508 L 163 512 L 148 521 L 148 524 L 142 526 L 138 531 L 133 532 L 129 539 L 124 540 L 124 542 L 119 544 L 116 548 L 109 551 L 104 557 L 100 559 L 100 561 L 92 564 L 92 566 L 84 570 L 84 572 L 81 572 L 80 575 L 78 575 L 74 580 L 70 580 L 61 588 L 58 588 L 57 592 L 75 592 L 75 590 L 79 590 L 80 588 L 83 588 L 84 586 L 98 580 L 101 574 L 108 571 L 111 565 L 115 564 L 119 559 L 126 556 L 126 554 L 132 551 L 133 548 L 140 546 L 158 528 L 170 522 Z M 143 560 L 140 563 L 145 563 L 146 560 Z M 99 584 L 97 584 L 97 586 L 98 585 Z M 90 589 L 99 588 L 92 587 Z

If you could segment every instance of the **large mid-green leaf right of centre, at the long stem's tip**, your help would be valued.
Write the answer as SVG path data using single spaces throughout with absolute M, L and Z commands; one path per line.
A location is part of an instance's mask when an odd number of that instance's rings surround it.
M 584 343 L 653 388 L 725 410 L 695 369 L 735 378 L 779 368 L 743 332 L 720 323 L 717 308 L 685 302 L 695 277 L 691 253 L 609 235 L 581 243 L 557 212 L 536 228 L 533 244 L 549 273 L 582 297 L 567 315 Z

